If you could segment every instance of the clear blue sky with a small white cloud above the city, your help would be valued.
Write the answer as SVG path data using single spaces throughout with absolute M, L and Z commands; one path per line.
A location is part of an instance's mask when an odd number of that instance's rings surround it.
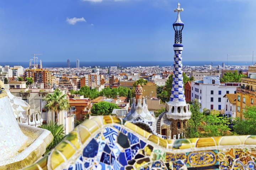
M 177 2 L 0 0 L 0 60 L 28 61 L 42 53 L 43 61 L 172 61 Z M 256 0 L 179 2 L 183 60 L 256 56 Z

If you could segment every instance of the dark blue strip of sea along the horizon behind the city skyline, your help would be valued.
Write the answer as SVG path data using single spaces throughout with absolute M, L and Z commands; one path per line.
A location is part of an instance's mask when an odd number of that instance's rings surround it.
M 172 66 L 172 61 L 107 61 L 107 62 L 97 62 L 97 61 L 80 61 L 80 68 L 81 67 L 95 67 L 100 66 L 102 68 L 104 67 L 111 67 L 111 66 L 117 66 L 119 63 L 120 67 L 151 67 L 151 66 L 159 66 L 159 67 L 168 67 Z M 212 61 L 183 61 L 183 66 L 204 66 L 204 65 L 210 65 L 212 64 Z M 222 66 L 223 61 L 213 61 L 213 66 Z M 224 62 L 225 65 L 226 62 Z M 32 62 L 33 64 L 33 62 Z M 39 64 L 39 62 L 38 62 Z M 60 61 L 60 62 L 43 62 L 42 61 L 43 68 L 66 68 L 67 62 Z M 229 66 L 250 66 L 252 65 L 252 62 L 250 61 L 229 61 Z M 0 66 L 22 66 L 24 68 L 28 68 L 29 63 L 28 62 L 0 62 Z M 75 68 L 76 62 L 70 61 L 70 67 Z

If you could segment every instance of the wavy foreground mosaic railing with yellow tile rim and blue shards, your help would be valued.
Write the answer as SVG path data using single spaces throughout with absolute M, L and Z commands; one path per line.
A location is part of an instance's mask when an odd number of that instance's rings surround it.
M 32 169 L 256 169 L 256 136 L 164 140 L 111 116 L 86 120 Z

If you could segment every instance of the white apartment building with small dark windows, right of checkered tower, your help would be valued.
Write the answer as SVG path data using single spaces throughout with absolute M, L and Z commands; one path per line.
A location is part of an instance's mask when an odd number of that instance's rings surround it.
M 204 76 L 203 81 L 191 82 L 191 100 L 195 98 L 203 108 L 222 111 L 225 109 L 225 94 L 235 94 L 240 83 L 220 83 L 218 75 Z

